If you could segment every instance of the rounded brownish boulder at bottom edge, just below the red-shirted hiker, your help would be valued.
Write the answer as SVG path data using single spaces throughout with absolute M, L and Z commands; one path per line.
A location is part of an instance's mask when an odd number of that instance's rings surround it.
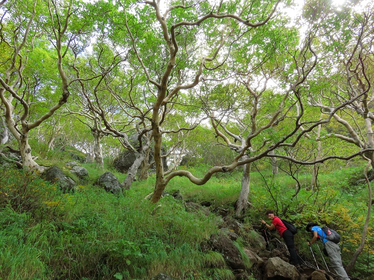
M 296 267 L 279 257 L 270 258 L 265 266 L 266 280 L 299 280 L 300 277 L 301 274 Z

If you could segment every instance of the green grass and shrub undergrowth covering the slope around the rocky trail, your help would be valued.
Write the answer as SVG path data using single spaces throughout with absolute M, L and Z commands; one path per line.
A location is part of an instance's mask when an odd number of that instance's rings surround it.
M 93 185 L 105 170 L 83 166 L 90 178 L 74 193 L 63 193 L 22 170 L 1 170 L 0 279 L 149 279 L 159 272 L 178 279 L 235 278 L 220 254 L 200 248 L 218 230 L 214 214 L 190 213 L 171 195 L 157 204 L 144 199 L 153 191 L 152 175 L 122 194 L 107 193 Z M 243 228 L 251 228 L 266 218 L 266 209 L 274 209 L 299 228 L 296 248 L 309 260 L 305 225 L 327 224 L 341 233 L 347 264 L 360 242 L 368 203 L 365 185 L 352 184 L 358 174 L 360 168 L 320 174 L 318 189 L 302 186 L 293 196 L 295 183 L 289 176 L 253 172 L 252 206 L 237 218 Z M 125 176 L 116 175 L 120 180 Z M 209 201 L 211 210 L 221 207 L 234 215 L 240 182 L 240 171 L 217 175 L 203 186 L 174 178 L 166 191 L 179 191 L 184 201 Z M 351 273 L 360 279 L 371 279 L 374 273 L 372 225 L 370 221 L 364 251 Z M 242 237 L 238 246 L 248 246 L 248 238 Z

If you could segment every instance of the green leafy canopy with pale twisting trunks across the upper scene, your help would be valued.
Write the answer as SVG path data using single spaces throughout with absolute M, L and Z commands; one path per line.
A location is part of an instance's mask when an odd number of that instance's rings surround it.
M 240 215 L 259 160 L 314 174 L 333 159 L 374 166 L 373 9 L 328 0 L 3 1 L 2 143 L 10 132 L 16 164 L 43 172 L 29 139 L 53 148 L 61 136 L 101 167 L 101 142 L 115 139 L 106 152 L 136 154 L 125 187 L 154 166 L 153 202 L 175 176 L 203 185 L 243 167 Z M 71 129 L 86 141 L 71 140 Z M 207 150 L 225 158 L 207 160 Z M 187 155 L 208 164 L 206 174 L 178 169 Z

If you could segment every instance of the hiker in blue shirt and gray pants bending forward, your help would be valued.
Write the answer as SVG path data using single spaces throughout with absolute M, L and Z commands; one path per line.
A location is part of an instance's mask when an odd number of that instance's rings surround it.
M 313 238 L 308 245 L 311 246 L 319 238 L 323 243 L 323 246 L 326 249 L 328 258 L 330 259 L 331 267 L 335 270 L 335 273 L 342 280 L 350 280 L 347 272 L 345 271 L 342 263 L 342 257 L 340 256 L 340 247 L 338 244 L 333 243 L 332 241 L 327 240 L 326 234 L 323 232 L 322 228 L 316 223 L 308 223 L 306 230 L 313 233 Z

